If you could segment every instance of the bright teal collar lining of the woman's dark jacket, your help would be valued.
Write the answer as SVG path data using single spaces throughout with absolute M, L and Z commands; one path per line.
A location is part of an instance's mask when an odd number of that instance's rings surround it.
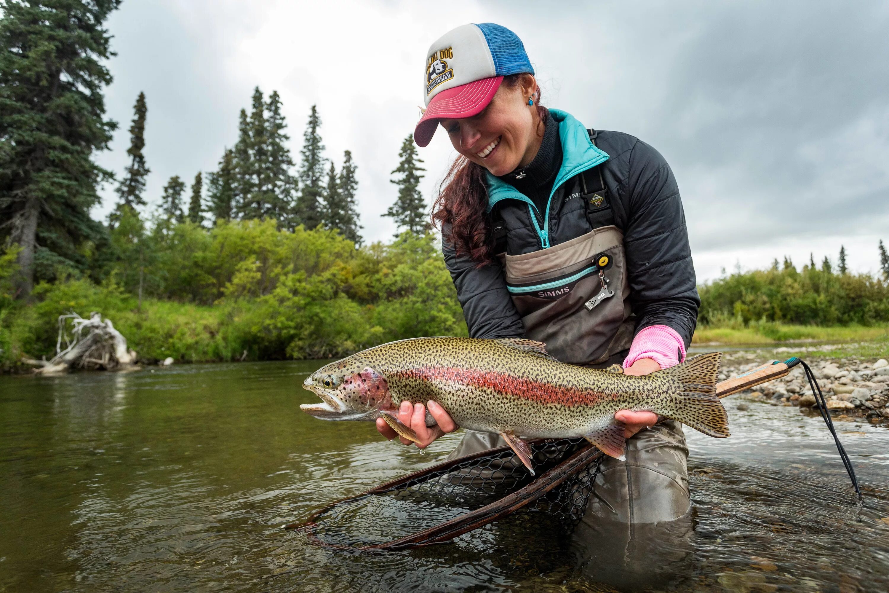
M 566 180 L 580 172 L 592 169 L 597 164 L 604 163 L 608 160 L 608 155 L 593 145 L 592 140 L 589 140 L 587 129 L 571 114 L 560 109 L 549 109 L 549 113 L 558 124 L 559 140 L 562 143 L 562 166 L 559 168 L 552 191 L 549 193 L 549 199 L 552 199 L 557 188 Z M 491 212 L 494 204 L 505 199 L 527 202 L 536 210 L 531 198 L 506 181 L 497 179 L 490 172 L 485 172 L 485 177 L 488 186 L 488 212 Z M 549 213 L 549 207 L 547 210 Z

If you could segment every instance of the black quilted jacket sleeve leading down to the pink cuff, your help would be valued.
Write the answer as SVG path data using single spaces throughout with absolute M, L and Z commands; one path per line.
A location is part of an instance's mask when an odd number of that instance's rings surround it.
M 630 305 L 639 317 L 636 331 L 667 325 L 687 348 L 701 298 L 676 178 L 661 153 L 637 140 L 625 183 L 624 248 Z

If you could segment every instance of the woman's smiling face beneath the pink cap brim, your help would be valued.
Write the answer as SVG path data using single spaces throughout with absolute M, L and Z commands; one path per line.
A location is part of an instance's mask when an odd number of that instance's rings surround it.
M 493 175 L 505 175 L 530 163 L 542 140 L 536 107 L 528 105 L 536 87 L 533 76 L 524 76 L 511 88 L 501 84 L 477 116 L 441 120 L 454 150 Z

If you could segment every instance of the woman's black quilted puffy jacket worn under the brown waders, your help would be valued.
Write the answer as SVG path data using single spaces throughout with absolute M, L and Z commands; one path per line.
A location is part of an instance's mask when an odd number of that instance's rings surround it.
M 581 133 L 579 129 L 586 131 L 565 112 L 550 109 L 550 113 L 559 123 L 564 159 L 568 160 L 573 150 L 572 135 L 576 139 Z M 649 325 L 668 325 L 682 336 L 687 348 L 701 299 L 676 178 L 661 153 L 642 140 L 621 132 L 599 131 L 594 135 L 596 148 L 607 155 L 607 160 L 597 166 L 608 190 L 608 220 L 613 220 L 624 235 L 629 301 L 638 320 L 636 331 Z M 489 181 L 495 182 L 494 179 L 489 176 Z M 603 226 L 597 222 L 597 215 L 588 217 L 586 201 L 581 199 L 582 182 L 580 173 L 561 183 L 557 180 L 549 201 L 549 228 L 544 228 L 544 213 L 533 220 L 533 209 L 518 199 L 493 204 L 489 216 L 504 227 L 507 252 L 534 252 L 584 235 L 594 226 Z M 489 192 L 491 189 L 489 185 Z M 544 235 L 539 228 L 545 231 Z M 523 335 L 525 330 L 509 296 L 500 261 L 477 268 L 468 256 L 455 254 L 447 242 L 449 233 L 450 227 L 445 225 L 445 264 L 453 277 L 469 335 Z M 541 236 L 549 245 L 544 244 Z

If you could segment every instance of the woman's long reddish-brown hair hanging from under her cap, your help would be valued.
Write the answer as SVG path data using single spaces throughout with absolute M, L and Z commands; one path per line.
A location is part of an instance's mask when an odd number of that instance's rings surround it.
M 501 84 L 514 88 L 523 74 L 504 76 Z M 538 134 L 546 122 L 547 111 L 540 104 L 540 87 L 534 92 L 537 100 Z M 443 240 L 453 245 L 458 255 L 469 255 L 479 266 L 494 258 L 491 220 L 487 215 L 488 189 L 485 167 L 465 156 L 457 156 L 438 187 L 438 197 L 432 204 L 432 223 L 438 227 L 451 226 Z

